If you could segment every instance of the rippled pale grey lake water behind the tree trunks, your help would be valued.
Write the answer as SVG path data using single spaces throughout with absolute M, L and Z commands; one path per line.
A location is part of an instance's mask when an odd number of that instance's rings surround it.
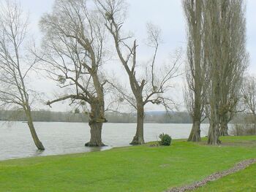
M 85 147 L 90 139 L 88 123 L 47 123 L 35 122 L 39 139 L 45 146 L 39 151 L 29 132 L 29 127 L 22 122 L 0 122 L 0 161 L 11 158 L 26 158 L 40 155 L 60 155 L 108 150 L 111 147 L 128 146 L 136 131 L 135 123 L 105 123 L 102 129 L 102 141 L 108 147 Z M 159 140 L 161 133 L 169 134 L 173 139 L 189 136 L 192 124 L 144 125 L 145 142 Z M 208 124 L 202 125 L 201 135 L 206 136 Z

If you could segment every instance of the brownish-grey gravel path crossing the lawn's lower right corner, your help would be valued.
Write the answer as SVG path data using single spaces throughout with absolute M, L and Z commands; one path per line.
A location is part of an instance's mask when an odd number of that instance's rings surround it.
M 185 185 L 179 188 L 171 188 L 169 191 L 166 192 L 183 192 L 183 191 L 192 191 L 195 188 L 199 188 L 203 185 L 206 185 L 206 183 L 210 182 L 210 181 L 214 181 L 214 180 L 218 180 L 221 177 L 225 177 L 228 174 L 233 174 L 235 172 L 238 172 L 240 170 L 245 169 L 247 166 L 251 165 L 251 164 L 255 164 L 256 163 L 256 158 L 253 159 L 249 159 L 249 160 L 245 160 L 245 161 L 241 161 L 238 164 L 236 164 L 235 166 L 233 166 L 230 169 L 227 169 L 226 171 L 223 172 L 217 172 L 214 174 L 210 174 L 208 177 L 206 177 L 203 180 L 197 181 L 195 183 L 192 183 L 191 185 Z

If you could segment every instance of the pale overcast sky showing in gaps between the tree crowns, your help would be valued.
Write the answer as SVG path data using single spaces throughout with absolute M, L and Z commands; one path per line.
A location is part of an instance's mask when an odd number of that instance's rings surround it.
M 0 0 L 2 1 L 2 0 Z M 39 37 L 38 21 L 45 12 L 50 12 L 54 0 L 20 0 L 21 6 L 30 13 L 31 29 L 35 37 Z M 184 14 L 181 0 L 127 0 L 129 3 L 129 15 L 126 28 L 135 33 L 139 43 L 145 39 L 146 23 L 151 22 L 162 28 L 163 44 L 159 50 L 159 56 L 167 55 L 178 47 L 186 48 L 186 33 Z M 250 66 L 248 72 L 256 74 L 256 1 L 246 1 L 246 28 L 247 50 L 250 54 Z M 140 51 L 141 58 L 146 58 L 148 53 Z M 40 88 L 45 92 L 53 92 L 53 85 L 49 82 L 38 80 Z M 181 88 L 180 88 L 181 89 Z M 56 105 L 54 110 L 69 110 L 67 104 Z M 148 108 L 156 110 L 156 108 Z

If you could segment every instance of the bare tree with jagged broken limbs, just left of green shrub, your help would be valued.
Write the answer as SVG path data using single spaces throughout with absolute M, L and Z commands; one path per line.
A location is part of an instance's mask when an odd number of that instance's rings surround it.
M 144 107 L 146 104 L 163 104 L 166 108 L 173 104 L 171 99 L 167 99 L 164 93 L 170 88 L 170 80 L 177 76 L 178 60 L 181 57 L 179 53 L 173 66 L 164 69 L 162 74 L 156 74 L 156 58 L 159 48 L 160 30 L 159 28 L 148 25 L 148 45 L 154 48 L 153 58 L 150 66 L 146 67 L 146 74 L 143 77 L 136 75 L 137 64 L 137 42 L 131 40 L 131 36 L 123 34 L 122 26 L 125 20 L 126 4 L 123 0 L 96 0 L 100 12 L 105 18 L 105 26 L 113 37 L 116 53 L 125 72 L 129 77 L 129 85 L 132 89 L 132 96 L 121 91 L 124 99 L 129 101 L 137 111 L 137 129 L 135 137 L 132 139 L 132 145 L 144 143 L 143 120 Z M 131 45 L 129 45 L 131 43 Z

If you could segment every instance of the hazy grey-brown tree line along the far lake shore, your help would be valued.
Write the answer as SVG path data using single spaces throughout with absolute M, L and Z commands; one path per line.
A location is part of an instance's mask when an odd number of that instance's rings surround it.
M 83 122 L 89 117 L 83 112 L 53 112 L 50 110 L 31 111 L 34 121 L 41 122 Z M 108 123 L 136 123 L 136 113 L 106 112 Z M 0 120 L 26 121 L 26 114 L 20 111 L 0 110 Z M 188 112 L 146 112 L 145 123 L 192 123 Z

